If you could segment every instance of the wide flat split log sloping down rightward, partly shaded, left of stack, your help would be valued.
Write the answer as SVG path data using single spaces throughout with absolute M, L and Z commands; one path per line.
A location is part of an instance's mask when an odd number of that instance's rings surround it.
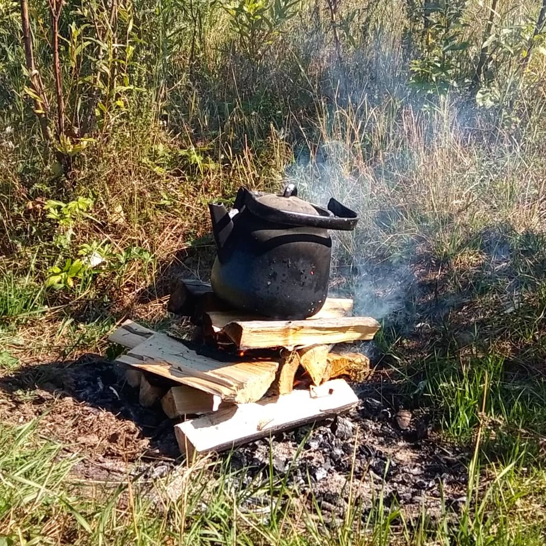
M 278 368 L 277 360 L 215 360 L 164 334 L 153 335 L 117 361 L 237 403 L 259 400 Z

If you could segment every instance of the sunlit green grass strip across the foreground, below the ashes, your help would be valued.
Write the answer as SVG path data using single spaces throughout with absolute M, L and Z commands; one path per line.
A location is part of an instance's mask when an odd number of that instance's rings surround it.
M 470 464 L 466 505 L 458 519 L 447 509 L 437 520 L 423 512 L 405 519 L 383 492 L 366 507 L 351 503 L 345 517 L 325 524 L 321 508 L 299 502 L 287 478 L 254 480 L 246 472 L 203 460 L 180 466 L 150 488 L 138 477 L 119 483 L 74 482 L 78 460 L 61 446 L 38 440 L 37 423 L 0 429 L 0 537 L 6 544 L 541 544 L 543 516 L 522 510 L 542 502 L 545 475 L 519 477 L 514 464 Z M 483 488 L 480 482 L 487 476 Z M 349 483 L 351 475 L 348 476 Z M 478 496 L 479 491 L 479 496 Z M 262 500 L 247 503 L 249 498 Z

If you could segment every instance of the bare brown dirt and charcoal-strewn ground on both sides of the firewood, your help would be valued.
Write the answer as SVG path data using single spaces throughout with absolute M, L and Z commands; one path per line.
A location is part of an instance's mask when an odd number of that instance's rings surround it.
M 287 483 L 309 503 L 318 502 L 327 519 L 341 518 L 347 502 L 361 502 L 365 511 L 379 494 L 385 506 L 396 500 L 412 516 L 422 507 L 439 514 L 441 489 L 447 506 L 464 503 L 467 454 L 436 441 L 426 414 L 411 416 L 403 430 L 396 389 L 381 379 L 354 385 L 360 402 L 346 416 L 236 449 L 229 465 L 246 468 L 237 474 L 240 485 L 269 479 L 271 453 L 275 476 L 288 473 Z M 174 423 L 159 407 L 141 407 L 123 371 L 98 355 L 31 363 L 0 378 L 0 422 L 35 418 L 40 436 L 81 458 L 73 473 L 83 482 L 174 476 L 182 462 Z

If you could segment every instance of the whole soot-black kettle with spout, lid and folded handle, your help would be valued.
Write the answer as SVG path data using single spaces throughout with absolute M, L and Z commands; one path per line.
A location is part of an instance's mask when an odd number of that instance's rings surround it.
M 304 319 L 328 295 L 329 229 L 352 230 L 355 212 L 331 198 L 327 209 L 298 197 L 240 188 L 234 209 L 209 204 L 218 253 L 212 290 L 230 306 L 265 317 Z

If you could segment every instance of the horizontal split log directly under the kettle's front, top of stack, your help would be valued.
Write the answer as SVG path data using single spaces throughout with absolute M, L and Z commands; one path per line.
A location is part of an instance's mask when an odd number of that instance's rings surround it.
M 230 322 L 222 331 L 236 347 L 246 350 L 371 340 L 378 329 L 379 323 L 371 317 L 338 317 L 305 321 Z

